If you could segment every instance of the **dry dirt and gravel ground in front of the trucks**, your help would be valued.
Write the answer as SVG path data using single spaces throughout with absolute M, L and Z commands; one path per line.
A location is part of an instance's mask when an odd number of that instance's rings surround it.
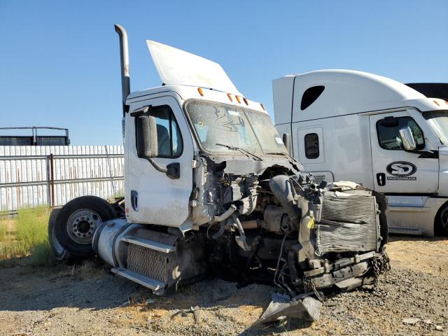
M 325 301 L 312 325 L 251 327 L 275 288 L 211 279 L 168 297 L 90 262 L 0 269 L 1 335 L 448 335 L 448 239 L 392 237 L 379 290 Z M 195 321 L 193 309 L 199 312 Z

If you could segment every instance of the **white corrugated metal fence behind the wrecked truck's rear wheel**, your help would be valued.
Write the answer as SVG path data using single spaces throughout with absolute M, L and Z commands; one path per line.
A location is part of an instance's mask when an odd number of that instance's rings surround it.
M 123 146 L 0 146 L 0 211 L 123 193 Z

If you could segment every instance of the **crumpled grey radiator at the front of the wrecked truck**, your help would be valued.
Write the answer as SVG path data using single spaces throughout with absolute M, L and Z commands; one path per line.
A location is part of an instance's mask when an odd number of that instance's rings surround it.
M 317 224 L 317 251 L 376 251 L 379 219 L 375 197 L 325 193 Z

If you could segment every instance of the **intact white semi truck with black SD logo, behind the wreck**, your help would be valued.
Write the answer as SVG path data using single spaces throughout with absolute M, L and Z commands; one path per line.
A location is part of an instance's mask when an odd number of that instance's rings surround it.
M 384 193 L 389 232 L 448 233 L 448 102 L 444 84 L 321 70 L 273 80 L 280 133 L 304 172 Z

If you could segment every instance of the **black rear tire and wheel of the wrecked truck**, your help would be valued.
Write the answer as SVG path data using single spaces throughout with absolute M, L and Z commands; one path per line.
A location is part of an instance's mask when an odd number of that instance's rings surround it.
M 56 258 L 68 261 L 94 254 L 94 230 L 102 222 L 116 218 L 116 211 L 100 197 L 82 196 L 66 203 L 55 216 L 51 233 L 51 221 L 49 222 L 48 237 L 51 237 L 50 242 Z

